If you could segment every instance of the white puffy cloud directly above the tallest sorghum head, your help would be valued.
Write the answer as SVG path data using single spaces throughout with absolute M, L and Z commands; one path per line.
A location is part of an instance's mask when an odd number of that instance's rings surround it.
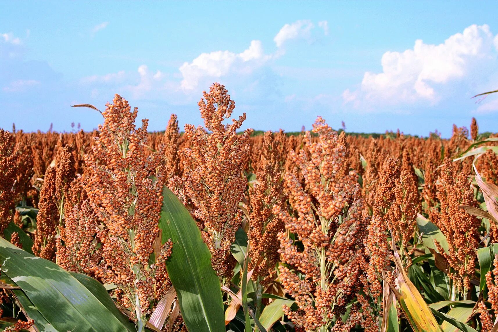
M 248 75 L 272 58 L 265 55 L 260 40 L 250 42 L 249 48 L 241 53 L 215 51 L 202 53 L 192 62 L 185 62 L 180 68 L 183 90 L 195 89 L 203 78 L 220 78 L 227 74 Z

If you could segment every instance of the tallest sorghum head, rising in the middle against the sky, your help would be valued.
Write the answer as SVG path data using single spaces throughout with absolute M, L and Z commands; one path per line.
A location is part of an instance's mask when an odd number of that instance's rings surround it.
M 185 135 L 191 148 L 183 149 L 185 155 L 183 189 L 193 204 L 193 217 L 205 232 L 212 253 L 212 265 L 219 276 L 231 277 L 235 259 L 230 246 L 242 222 L 242 202 L 246 190 L 246 178 L 242 170 L 249 153 L 251 129 L 237 134 L 246 119 L 246 113 L 232 124 L 223 124 L 230 118 L 235 102 L 225 87 L 219 83 L 203 93 L 199 102 L 204 125 L 185 125 Z

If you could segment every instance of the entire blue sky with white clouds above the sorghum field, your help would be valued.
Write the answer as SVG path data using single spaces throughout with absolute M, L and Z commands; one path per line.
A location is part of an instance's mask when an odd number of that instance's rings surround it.
M 246 127 L 498 131 L 498 2 L 1 1 L 0 127 L 91 130 L 115 93 L 164 129 L 226 86 Z

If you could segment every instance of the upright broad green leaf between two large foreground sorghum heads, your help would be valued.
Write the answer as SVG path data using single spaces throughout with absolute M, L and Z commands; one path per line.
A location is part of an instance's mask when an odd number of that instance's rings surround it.
M 173 242 L 166 269 L 185 325 L 189 331 L 225 332 L 221 285 L 211 267 L 209 248 L 197 223 L 175 194 L 164 186 L 162 195 L 161 242 Z

